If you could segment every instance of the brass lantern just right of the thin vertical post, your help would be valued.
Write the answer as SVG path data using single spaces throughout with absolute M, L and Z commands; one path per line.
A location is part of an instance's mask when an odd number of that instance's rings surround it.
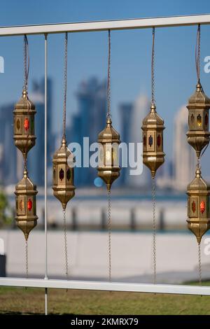
M 62 139 L 62 146 L 53 156 L 52 190 L 55 197 L 62 203 L 65 210 L 66 204 L 75 195 L 73 185 L 73 154 L 66 146 L 66 139 Z

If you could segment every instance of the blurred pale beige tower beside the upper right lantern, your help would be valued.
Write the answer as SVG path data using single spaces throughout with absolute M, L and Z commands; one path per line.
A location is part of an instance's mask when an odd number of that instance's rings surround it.
M 188 110 L 182 106 L 174 120 L 174 188 L 186 191 L 195 176 L 196 155 L 188 144 Z

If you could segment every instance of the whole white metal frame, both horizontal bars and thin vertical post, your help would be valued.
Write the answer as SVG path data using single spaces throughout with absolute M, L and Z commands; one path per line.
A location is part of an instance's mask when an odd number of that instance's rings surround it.
M 45 36 L 45 276 L 44 279 L 0 278 L 0 286 L 45 288 L 45 314 L 48 314 L 48 288 L 69 288 L 87 290 L 116 290 L 139 293 L 172 293 L 187 295 L 210 295 L 210 286 L 183 286 L 169 284 L 119 283 L 106 281 L 73 281 L 48 279 L 47 243 L 47 68 L 48 34 L 64 32 L 106 31 L 121 29 L 144 29 L 151 27 L 180 27 L 210 25 L 210 14 L 174 16 L 165 18 L 141 18 L 134 20 L 109 20 L 100 22 L 75 22 L 50 25 L 27 25 L 0 27 L 0 36 L 43 34 Z

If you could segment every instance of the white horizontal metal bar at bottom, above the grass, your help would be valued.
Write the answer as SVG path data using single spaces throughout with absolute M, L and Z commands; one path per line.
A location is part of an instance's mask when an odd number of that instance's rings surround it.
M 0 278 L 0 286 L 127 291 L 136 293 L 169 293 L 181 295 L 210 295 L 210 286 L 183 286 L 120 282 L 110 283 L 106 281 L 66 281 L 55 279 Z

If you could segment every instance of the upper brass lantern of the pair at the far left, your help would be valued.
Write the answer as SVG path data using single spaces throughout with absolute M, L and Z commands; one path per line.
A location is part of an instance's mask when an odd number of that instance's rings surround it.
M 35 145 L 34 115 L 36 109 L 29 100 L 27 91 L 23 90 L 22 97 L 15 104 L 14 114 L 14 140 L 15 146 L 22 152 L 24 158 L 28 151 Z

